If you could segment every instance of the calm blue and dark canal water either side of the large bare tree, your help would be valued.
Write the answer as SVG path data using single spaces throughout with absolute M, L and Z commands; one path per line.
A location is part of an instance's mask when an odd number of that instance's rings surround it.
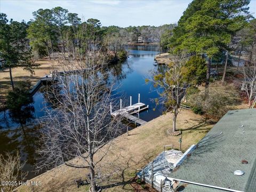
M 156 46 L 129 46 L 129 58 L 123 63 L 117 63 L 110 68 L 113 75 L 117 78 L 119 95 L 122 95 L 126 103 L 138 102 L 138 93 L 140 93 L 140 102 L 149 105 L 148 111 L 140 113 L 140 118 L 150 121 L 161 115 L 161 109 L 156 107 L 153 98 L 157 97 L 157 92 L 153 86 L 145 83 L 145 79 L 150 76 L 151 70 L 157 70 L 154 66 L 154 57 L 158 54 Z M 43 89 L 36 92 L 33 97 L 33 104 L 30 107 L 23 108 L 18 114 L 12 114 L 9 111 L 0 112 L 0 154 L 5 151 L 15 153 L 19 150 L 21 161 L 26 161 L 25 170 L 29 172 L 27 179 L 35 177 L 35 153 L 39 134 L 37 119 L 44 116 L 43 108 L 47 107 L 45 103 Z

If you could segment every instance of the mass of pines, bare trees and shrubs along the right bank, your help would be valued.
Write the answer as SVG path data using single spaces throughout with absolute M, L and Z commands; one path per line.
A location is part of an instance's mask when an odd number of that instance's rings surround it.
M 179 19 L 177 27 L 170 35 L 165 36 L 171 55 L 167 71 L 157 71 L 146 82 L 151 81 L 157 87 L 159 97 L 155 99 L 156 103 L 162 103 L 165 111 L 173 114 L 171 132 L 176 131 L 175 122 L 180 111 L 181 98 L 188 87 L 205 83 L 204 94 L 196 92 L 197 98 L 193 98 L 192 103 L 197 111 L 213 111 L 212 109 L 218 110 L 218 107 L 233 105 L 235 100 L 230 101 L 229 98 L 234 98 L 234 89 L 229 91 L 231 94 L 222 92 L 221 97 L 215 94 L 216 86 L 212 89 L 214 91 L 209 89 L 212 60 L 223 54 L 225 65 L 222 83 L 225 82 L 230 53 L 237 55 L 239 60 L 243 56 L 246 60 L 245 73 L 242 74 L 245 90 L 249 100 L 255 103 L 256 75 L 253 66 L 256 20 L 249 12 L 249 3 L 249 0 L 194 0 Z M 216 98 L 220 101 L 215 102 L 218 100 Z M 253 107 L 250 101 L 249 107 Z M 219 111 L 221 113 L 218 115 L 222 115 L 223 111 Z

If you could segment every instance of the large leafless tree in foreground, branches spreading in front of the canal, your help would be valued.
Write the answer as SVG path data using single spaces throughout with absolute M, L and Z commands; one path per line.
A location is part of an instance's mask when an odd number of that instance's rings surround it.
M 91 191 L 97 191 L 99 162 L 105 157 L 111 141 L 121 132 L 119 118 L 111 117 L 114 79 L 109 81 L 105 54 L 94 30 L 84 26 L 76 34 L 75 59 L 60 59 L 56 73 L 58 82 L 49 89 L 46 98 L 53 103 L 42 119 L 44 145 L 39 153 L 39 168 L 60 164 L 89 168 Z M 92 39 L 93 38 L 93 39 Z M 78 46 L 79 45 L 79 46 Z M 95 156 L 97 154 L 97 156 Z M 69 161 L 76 158 L 77 161 Z

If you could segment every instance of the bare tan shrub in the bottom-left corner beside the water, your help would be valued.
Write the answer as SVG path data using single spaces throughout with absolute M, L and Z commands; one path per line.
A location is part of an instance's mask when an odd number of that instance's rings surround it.
M 25 173 L 21 171 L 23 165 L 24 164 L 20 162 L 18 151 L 17 154 L 14 155 L 9 153 L 5 155 L 0 154 L 0 181 L 10 182 L 0 187 L 2 191 L 13 191 L 13 189 L 19 185 L 17 182 L 24 179 Z

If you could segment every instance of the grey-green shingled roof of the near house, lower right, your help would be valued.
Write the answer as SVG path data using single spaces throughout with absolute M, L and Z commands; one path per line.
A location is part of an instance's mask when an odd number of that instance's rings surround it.
M 169 177 L 228 190 L 255 191 L 255 119 L 256 109 L 228 111 Z M 242 160 L 248 164 L 242 164 Z M 235 170 L 244 174 L 234 175 Z

